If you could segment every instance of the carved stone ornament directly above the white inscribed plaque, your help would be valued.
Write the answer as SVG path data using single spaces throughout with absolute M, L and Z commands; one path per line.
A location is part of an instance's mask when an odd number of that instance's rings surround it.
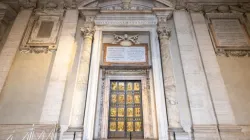
M 128 36 L 128 34 L 117 35 L 114 34 L 114 40 L 112 44 L 118 44 L 122 46 L 131 46 L 132 44 L 140 44 L 138 41 L 139 35 Z

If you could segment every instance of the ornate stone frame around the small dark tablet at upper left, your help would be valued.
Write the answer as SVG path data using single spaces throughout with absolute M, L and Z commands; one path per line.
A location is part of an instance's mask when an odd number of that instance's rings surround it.
M 47 53 L 55 51 L 57 49 L 56 43 L 63 13 L 64 10 L 36 10 L 35 14 L 30 18 L 19 48 L 20 51 L 24 53 Z M 51 31 L 48 36 L 39 37 L 38 34 L 43 23 L 51 24 Z

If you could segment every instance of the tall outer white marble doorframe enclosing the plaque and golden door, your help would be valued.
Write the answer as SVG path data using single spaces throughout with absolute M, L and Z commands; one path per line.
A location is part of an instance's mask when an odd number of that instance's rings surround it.
M 152 88 L 154 88 L 154 98 L 156 106 L 156 120 L 157 120 L 157 130 L 155 131 L 154 137 L 158 137 L 158 139 L 168 139 L 168 120 L 167 120 L 167 113 L 166 113 L 166 103 L 165 103 L 165 95 L 164 95 L 164 86 L 163 86 L 163 78 L 162 78 L 162 67 L 161 67 L 161 58 L 160 58 L 160 45 L 158 40 L 158 34 L 157 34 L 157 25 L 147 25 L 147 26 L 126 26 L 126 25 L 120 25 L 120 26 L 96 26 L 96 35 L 94 37 L 94 50 L 92 52 L 92 58 L 95 55 L 95 60 L 98 60 L 98 62 L 93 61 L 91 63 L 90 67 L 90 75 L 89 77 L 99 77 L 99 73 L 97 74 L 97 71 L 100 71 L 100 60 L 101 60 L 101 50 L 102 50 L 102 34 L 103 32 L 115 32 L 115 31 L 145 31 L 149 32 L 150 35 L 150 46 L 151 46 L 151 61 L 152 61 Z M 99 35 L 97 35 L 99 34 Z M 99 36 L 99 37 L 97 37 Z M 96 42 L 96 43 L 95 43 Z M 96 48 L 95 48 L 96 47 Z M 95 49 L 97 49 L 95 51 Z M 97 66 L 98 65 L 98 66 Z M 86 113 L 90 113 L 88 117 L 84 118 L 84 135 L 83 139 L 93 139 L 94 136 L 94 122 L 95 122 L 95 113 L 96 113 L 96 98 L 98 93 L 98 82 L 95 82 L 93 84 L 94 80 L 98 79 L 91 78 L 92 81 L 89 83 L 88 87 L 88 98 L 89 101 L 87 101 L 86 105 Z M 92 84 L 92 85 L 91 85 Z M 91 85 L 91 86 L 90 86 Z M 90 95 L 91 94 L 91 95 Z M 90 97 L 91 96 L 91 97 Z M 95 102 L 94 102 L 95 101 Z M 94 104 L 94 105 L 93 105 Z M 89 108 L 89 109 L 88 109 Z M 91 110 L 91 112 L 90 112 Z M 93 112 L 93 113 L 92 113 Z M 157 134 L 156 134 L 157 133 Z

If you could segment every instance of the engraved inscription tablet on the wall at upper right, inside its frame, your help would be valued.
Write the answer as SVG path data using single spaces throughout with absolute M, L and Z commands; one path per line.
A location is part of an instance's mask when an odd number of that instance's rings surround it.
M 238 19 L 213 19 L 212 30 L 217 47 L 249 46 L 248 35 Z

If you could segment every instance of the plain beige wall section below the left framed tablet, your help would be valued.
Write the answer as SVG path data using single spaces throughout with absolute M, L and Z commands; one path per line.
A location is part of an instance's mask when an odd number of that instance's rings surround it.
M 0 124 L 39 122 L 53 54 L 18 52 L 0 94 Z

